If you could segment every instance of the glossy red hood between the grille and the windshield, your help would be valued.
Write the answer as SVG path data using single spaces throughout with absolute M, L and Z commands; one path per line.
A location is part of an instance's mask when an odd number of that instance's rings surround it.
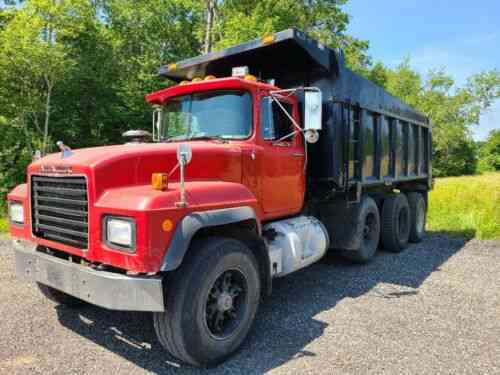
M 47 155 L 32 163 L 28 173 L 50 173 L 56 167 L 62 173 L 85 174 L 98 181 L 95 186 L 97 199 L 113 187 L 145 185 L 151 174 L 168 173 L 177 164 L 176 150 L 179 143 L 125 144 L 72 150 L 65 159 L 61 153 Z M 241 148 L 231 143 L 192 141 L 193 159 L 186 168 L 187 180 L 218 180 L 241 182 Z M 47 172 L 47 170 L 49 172 Z M 177 180 L 175 173 L 172 180 Z

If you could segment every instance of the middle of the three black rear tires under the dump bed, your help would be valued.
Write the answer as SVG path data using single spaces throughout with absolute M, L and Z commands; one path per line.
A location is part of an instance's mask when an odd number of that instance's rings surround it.
M 410 207 L 405 194 L 389 195 L 382 206 L 382 246 L 399 253 L 408 246 Z

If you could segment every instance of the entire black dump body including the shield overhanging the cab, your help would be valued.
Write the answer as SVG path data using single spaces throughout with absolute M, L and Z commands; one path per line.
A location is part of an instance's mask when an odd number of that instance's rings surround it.
M 320 141 L 308 145 L 308 179 L 313 191 L 404 188 L 431 183 L 431 127 L 427 117 L 348 69 L 338 50 L 296 29 L 222 51 L 164 65 L 174 81 L 227 77 L 248 66 L 261 80 L 281 88 L 316 86 L 323 93 Z

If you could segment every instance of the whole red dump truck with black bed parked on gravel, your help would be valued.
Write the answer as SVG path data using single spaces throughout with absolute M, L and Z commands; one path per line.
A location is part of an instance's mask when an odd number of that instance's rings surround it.
M 71 306 L 153 312 L 174 357 L 234 353 L 274 278 L 424 236 L 427 117 L 289 29 L 163 65 L 152 132 L 34 161 L 8 195 L 16 272 Z

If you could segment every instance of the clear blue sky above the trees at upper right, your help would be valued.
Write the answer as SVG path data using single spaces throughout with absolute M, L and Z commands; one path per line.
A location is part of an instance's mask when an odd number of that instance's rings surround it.
M 499 0 L 349 0 L 347 33 L 370 42 L 374 61 L 396 66 L 410 57 L 421 73 L 444 68 L 463 85 L 483 70 L 500 70 Z M 500 100 L 473 127 L 475 140 L 500 129 Z

